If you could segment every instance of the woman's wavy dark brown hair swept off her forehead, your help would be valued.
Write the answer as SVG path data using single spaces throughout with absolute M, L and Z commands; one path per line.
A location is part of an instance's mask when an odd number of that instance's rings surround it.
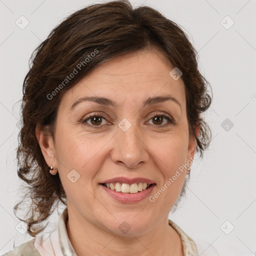
M 33 51 L 23 81 L 17 173 L 26 183 L 24 198 L 31 202 L 25 219 L 19 219 L 27 223 L 31 236 L 45 228 L 40 222 L 51 215 L 60 201 L 66 205 L 59 175 L 49 173 L 35 136 L 35 126 L 40 125 L 54 140 L 56 113 L 66 90 L 101 63 L 150 47 L 161 49 L 171 65 L 182 71 L 189 134 L 196 137 L 193 127 L 200 126 L 196 150 L 202 157 L 211 131 L 200 113 L 209 107 L 211 96 L 207 93 L 209 84 L 198 70 L 197 52 L 182 29 L 151 7 L 133 9 L 128 0 L 79 9 L 57 25 Z M 77 73 L 66 81 L 74 69 Z M 184 186 L 180 196 L 183 192 Z M 14 206 L 15 215 L 24 198 Z

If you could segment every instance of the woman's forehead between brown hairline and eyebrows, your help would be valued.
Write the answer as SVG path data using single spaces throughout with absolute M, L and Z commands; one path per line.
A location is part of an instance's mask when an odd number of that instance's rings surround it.
M 181 78 L 174 80 L 169 75 L 172 69 L 165 55 L 156 48 L 117 56 L 80 79 L 61 101 L 70 107 L 79 97 L 88 95 L 108 97 L 121 104 L 171 94 L 182 104 L 184 83 Z

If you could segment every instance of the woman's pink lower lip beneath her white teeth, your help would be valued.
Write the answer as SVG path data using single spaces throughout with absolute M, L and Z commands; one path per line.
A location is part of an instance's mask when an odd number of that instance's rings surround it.
M 115 190 L 112 190 L 110 188 L 107 188 L 106 186 L 100 184 L 100 186 L 110 195 L 112 196 L 115 200 L 122 202 L 122 203 L 134 203 L 134 202 L 139 202 L 143 199 L 145 199 L 152 191 L 154 188 L 155 184 L 152 184 L 150 187 L 148 187 L 145 190 L 142 190 L 137 193 L 122 193 L 122 192 L 117 192 Z

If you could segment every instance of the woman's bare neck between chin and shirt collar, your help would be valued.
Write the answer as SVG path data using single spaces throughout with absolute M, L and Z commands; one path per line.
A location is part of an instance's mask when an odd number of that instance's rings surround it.
M 180 237 L 168 224 L 168 217 L 147 233 L 138 236 L 122 236 L 100 228 L 80 214 L 73 213 L 71 211 L 71 214 L 68 214 L 66 228 L 77 256 L 183 256 Z

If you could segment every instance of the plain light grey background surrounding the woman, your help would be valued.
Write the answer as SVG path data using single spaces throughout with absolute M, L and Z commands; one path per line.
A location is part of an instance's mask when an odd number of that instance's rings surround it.
M 18 245 L 32 238 L 17 231 L 19 220 L 12 210 L 22 195 L 15 160 L 17 101 L 22 97 L 28 59 L 64 17 L 87 4 L 101 2 L 0 0 L 0 254 L 12 249 L 14 239 Z M 212 128 L 211 145 L 202 160 L 193 162 L 186 197 L 169 218 L 198 242 L 201 256 L 255 255 L 256 1 L 131 3 L 152 6 L 185 30 L 199 53 L 200 70 L 213 90 L 213 102 L 205 114 Z M 24 29 L 15 24 L 21 15 L 29 21 Z M 231 27 L 226 15 L 234 21 Z M 225 125 L 229 125 L 228 130 Z M 56 216 L 52 216 L 52 222 Z M 226 220 L 229 222 L 222 225 Z M 234 229 L 226 234 L 232 226 Z

